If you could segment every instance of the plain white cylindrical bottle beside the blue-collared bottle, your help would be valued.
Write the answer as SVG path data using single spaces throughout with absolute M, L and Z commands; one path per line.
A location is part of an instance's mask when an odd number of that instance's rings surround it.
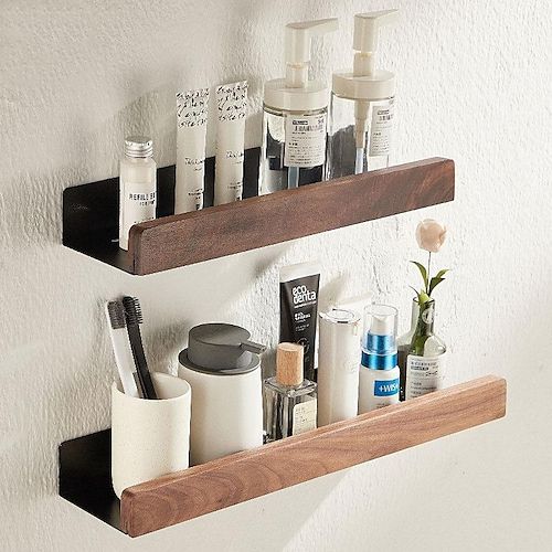
M 360 316 L 336 308 L 321 312 L 319 320 L 318 427 L 321 427 L 357 416 Z

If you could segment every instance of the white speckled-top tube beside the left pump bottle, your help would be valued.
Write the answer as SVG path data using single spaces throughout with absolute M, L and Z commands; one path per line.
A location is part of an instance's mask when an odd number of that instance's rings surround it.
M 216 87 L 214 204 L 242 199 L 247 81 Z

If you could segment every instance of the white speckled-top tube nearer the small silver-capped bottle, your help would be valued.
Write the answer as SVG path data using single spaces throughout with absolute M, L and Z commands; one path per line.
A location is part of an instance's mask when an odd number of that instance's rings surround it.
M 177 94 L 174 214 L 203 209 L 209 88 Z

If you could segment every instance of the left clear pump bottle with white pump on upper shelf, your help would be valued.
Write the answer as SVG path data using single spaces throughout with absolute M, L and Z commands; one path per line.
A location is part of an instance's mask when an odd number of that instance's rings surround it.
M 265 83 L 259 194 L 323 178 L 328 88 L 308 78 L 310 42 L 337 29 L 335 18 L 286 25 L 286 76 Z

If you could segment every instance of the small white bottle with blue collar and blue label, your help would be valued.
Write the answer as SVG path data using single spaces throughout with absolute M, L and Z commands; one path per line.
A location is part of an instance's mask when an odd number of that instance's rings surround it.
M 389 305 L 370 305 L 364 311 L 359 414 L 399 402 L 396 318 L 397 310 Z

